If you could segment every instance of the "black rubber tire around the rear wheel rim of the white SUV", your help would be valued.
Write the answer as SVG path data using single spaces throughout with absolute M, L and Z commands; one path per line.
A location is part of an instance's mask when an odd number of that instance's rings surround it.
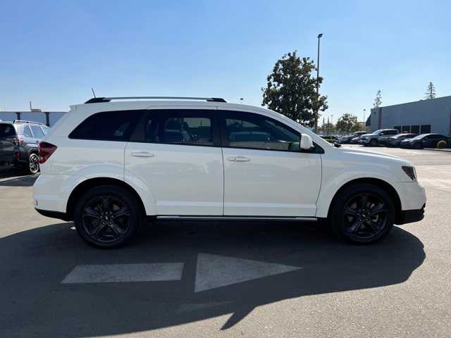
M 92 237 L 87 234 L 85 228 L 82 225 L 81 216 L 82 209 L 84 208 L 85 204 L 87 204 L 87 202 L 94 197 L 101 195 L 113 196 L 116 199 L 121 200 L 130 211 L 130 227 L 128 228 L 128 232 L 125 234 L 125 236 L 121 237 L 121 239 L 118 239 L 114 242 L 102 243 L 96 241 L 95 239 L 92 239 Z M 80 197 L 77 204 L 75 205 L 73 221 L 75 229 L 77 230 L 78 234 L 80 234 L 80 237 L 85 240 L 85 242 L 91 244 L 92 246 L 96 246 L 97 248 L 112 249 L 128 244 L 132 241 L 132 239 L 135 238 L 138 230 L 140 229 L 140 225 L 142 224 L 143 216 L 143 212 L 139 207 L 139 204 L 137 203 L 135 197 L 132 196 L 132 194 L 130 194 L 127 189 L 114 185 L 105 185 L 89 189 Z

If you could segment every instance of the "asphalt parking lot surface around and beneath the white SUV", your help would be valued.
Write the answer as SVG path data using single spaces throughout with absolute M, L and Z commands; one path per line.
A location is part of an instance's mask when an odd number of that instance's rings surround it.
M 412 161 L 428 198 L 371 246 L 315 223 L 156 223 L 102 251 L 0 170 L 0 337 L 451 337 L 451 153 L 359 149 Z

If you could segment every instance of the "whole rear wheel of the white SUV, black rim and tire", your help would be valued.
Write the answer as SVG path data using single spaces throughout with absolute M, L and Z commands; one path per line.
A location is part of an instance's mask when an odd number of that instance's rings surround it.
M 78 234 L 87 244 L 112 249 L 137 237 L 145 214 L 127 189 L 104 185 L 90 189 L 78 199 L 73 220 Z

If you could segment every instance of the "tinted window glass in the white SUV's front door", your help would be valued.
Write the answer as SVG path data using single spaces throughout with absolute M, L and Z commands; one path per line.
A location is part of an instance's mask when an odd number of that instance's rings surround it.
M 228 146 L 299 151 L 299 133 L 263 115 L 226 112 Z

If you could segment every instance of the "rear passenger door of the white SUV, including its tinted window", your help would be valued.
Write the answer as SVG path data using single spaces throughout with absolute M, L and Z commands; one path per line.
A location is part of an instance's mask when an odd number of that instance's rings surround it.
M 141 128 L 125 148 L 125 181 L 143 182 L 158 215 L 223 215 L 216 107 L 150 109 Z

